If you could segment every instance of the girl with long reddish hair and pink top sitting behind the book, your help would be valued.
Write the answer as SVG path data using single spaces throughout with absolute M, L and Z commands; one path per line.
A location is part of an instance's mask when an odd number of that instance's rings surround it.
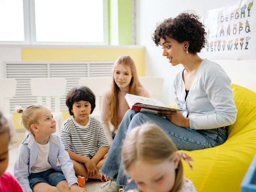
M 109 143 L 112 143 L 110 124 L 113 126 L 112 134 L 114 134 L 129 109 L 124 98 L 127 93 L 150 97 L 149 92 L 138 80 L 133 59 L 128 55 L 123 55 L 118 57 L 114 64 L 111 89 L 103 94 L 101 101 L 100 121 Z

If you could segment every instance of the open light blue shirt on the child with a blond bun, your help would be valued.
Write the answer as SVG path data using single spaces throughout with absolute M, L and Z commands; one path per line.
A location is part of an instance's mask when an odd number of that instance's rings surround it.
M 51 134 L 50 148 L 48 160 L 50 165 L 56 171 L 62 171 L 68 186 L 70 187 L 74 183 L 78 183 L 73 168 L 73 163 L 69 158 L 68 152 L 65 151 L 64 145 L 60 141 L 60 138 Z M 37 160 L 38 146 L 32 133 L 28 134 L 26 139 L 20 144 L 17 151 L 17 159 L 14 165 L 14 176 L 17 178 L 24 192 L 32 192 L 28 181 L 28 176 L 31 174 L 31 167 L 34 166 Z M 57 167 L 57 158 L 59 160 L 59 167 Z

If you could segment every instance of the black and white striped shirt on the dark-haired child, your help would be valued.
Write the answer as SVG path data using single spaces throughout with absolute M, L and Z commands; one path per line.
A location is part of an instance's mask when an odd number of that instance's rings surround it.
M 100 121 L 89 116 L 86 126 L 75 122 L 73 116 L 68 118 L 60 131 L 60 139 L 66 150 L 92 158 L 96 149 L 109 146 Z

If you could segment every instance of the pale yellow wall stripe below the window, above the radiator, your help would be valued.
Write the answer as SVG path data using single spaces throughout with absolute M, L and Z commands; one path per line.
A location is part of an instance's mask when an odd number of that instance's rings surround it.
M 139 76 L 145 75 L 144 48 L 22 48 L 22 61 L 106 61 L 120 55 L 133 58 Z

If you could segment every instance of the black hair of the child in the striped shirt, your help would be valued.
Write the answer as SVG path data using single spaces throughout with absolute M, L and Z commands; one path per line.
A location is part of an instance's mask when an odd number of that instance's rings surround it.
M 89 87 L 86 86 L 77 86 L 73 87 L 66 96 L 66 106 L 69 109 L 69 114 L 74 115 L 72 112 L 73 104 L 79 101 L 88 101 L 91 104 L 91 113 L 95 108 L 95 95 Z

